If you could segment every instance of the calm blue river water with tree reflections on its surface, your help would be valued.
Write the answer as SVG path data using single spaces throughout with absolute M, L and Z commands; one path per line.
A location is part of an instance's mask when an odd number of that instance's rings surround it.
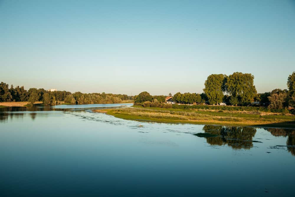
M 0 196 L 295 196 L 295 129 L 146 123 L 87 109 L 111 106 L 1 109 Z

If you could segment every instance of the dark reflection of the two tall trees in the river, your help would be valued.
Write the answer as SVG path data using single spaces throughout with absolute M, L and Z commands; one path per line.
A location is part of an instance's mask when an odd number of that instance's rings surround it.
M 250 149 L 253 147 L 252 138 L 256 133 L 256 128 L 252 127 L 205 125 L 203 130 L 207 133 L 219 135 L 219 137 L 207 137 L 207 143 L 219 146 L 227 144 L 234 149 Z

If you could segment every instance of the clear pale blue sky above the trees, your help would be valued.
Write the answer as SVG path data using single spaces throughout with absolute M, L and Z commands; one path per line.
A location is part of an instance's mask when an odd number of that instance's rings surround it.
M 295 71 L 295 1 L 0 0 L 0 81 L 26 89 L 201 93 L 252 73 L 258 92 Z

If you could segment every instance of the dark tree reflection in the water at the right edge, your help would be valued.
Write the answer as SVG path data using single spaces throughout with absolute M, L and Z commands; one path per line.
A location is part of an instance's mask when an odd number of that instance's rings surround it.
M 273 136 L 288 137 L 286 146 L 289 152 L 295 156 L 295 130 L 294 129 L 283 129 L 283 128 L 265 128 L 265 130 L 271 132 Z

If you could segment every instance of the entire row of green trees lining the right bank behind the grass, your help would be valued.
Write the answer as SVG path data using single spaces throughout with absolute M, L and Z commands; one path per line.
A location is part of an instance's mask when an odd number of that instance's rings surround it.
M 263 106 L 269 109 L 295 108 L 295 72 L 289 75 L 288 89 L 274 89 L 271 92 L 257 93 L 254 76 L 250 73 L 235 72 L 229 76 L 212 74 L 205 81 L 202 94 L 180 93 L 173 95 L 172 100 L 180 104 L 210 105 L 224 102 L 235 106 Z M 169 96 L 172 96 L 171 93 Z M 154 102 L 156 100 L 157 102 Z M 165 103 L 165 96 L 152 96 L 148 92 L 141 92 L 134 96 L 135 105 L 152 106 Z M 160 106 L 160 105 L 159 105 Z

